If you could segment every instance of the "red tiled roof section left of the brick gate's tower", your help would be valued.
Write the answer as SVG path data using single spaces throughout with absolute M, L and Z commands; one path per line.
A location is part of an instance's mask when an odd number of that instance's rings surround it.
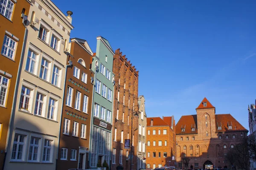
M 185 128 L 185 132 L 181 131 L 181 128 Z M 192 131 L 192 128 L 195 128 L 195 131 Z M 179 122 L 175 126 L 176 134 L 197 134 L 197 115 L 186 115 L 181 116 Z

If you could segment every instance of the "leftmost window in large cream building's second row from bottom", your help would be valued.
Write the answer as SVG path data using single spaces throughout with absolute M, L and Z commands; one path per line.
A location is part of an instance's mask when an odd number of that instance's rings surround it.
M 31 99 L 32 93 L 31 90 L 25 86 L 22 86 L 21 88 L 21 94 L 20 94 L 20 105 L 19 109 L 23 111 L 30 111 L 30 99 Z

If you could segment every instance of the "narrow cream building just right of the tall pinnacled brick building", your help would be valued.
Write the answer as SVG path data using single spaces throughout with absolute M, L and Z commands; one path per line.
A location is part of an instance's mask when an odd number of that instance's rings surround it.
M 139 136 L 137 148 L 137 170 L 146 168 L 146 136 L 147 136 L 147 115 L 145 112 L 145 98 L 138 97 L 139 105 Z

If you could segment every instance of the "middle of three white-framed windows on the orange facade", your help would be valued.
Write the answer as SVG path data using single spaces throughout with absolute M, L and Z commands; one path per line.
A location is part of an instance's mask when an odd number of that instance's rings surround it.
M 2 2 L 3 1 L 0 1 L 0 4 Z M 3 8 L 3 6 L 2 6 L 2 8 Z M 0 12 L 1 12 L 1 9 L 0 9 Z M 5 35 L 4 40 L 3 40 L 3 47 L 2 47 L 1 54 L 3 54 L 6 57 L 9 57 L 11 59 L 14 59 L 16 44 L 17 44 L 17 42 L 15 40 L 13 40 L 9 36 Z

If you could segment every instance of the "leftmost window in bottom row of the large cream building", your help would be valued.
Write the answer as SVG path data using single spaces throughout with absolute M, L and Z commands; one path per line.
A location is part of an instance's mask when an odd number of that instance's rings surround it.
M 25 150 L 25 135 L 15 134 L 13 147 L 12 147 L 12 158 L 13 160 L 24 160 Z

